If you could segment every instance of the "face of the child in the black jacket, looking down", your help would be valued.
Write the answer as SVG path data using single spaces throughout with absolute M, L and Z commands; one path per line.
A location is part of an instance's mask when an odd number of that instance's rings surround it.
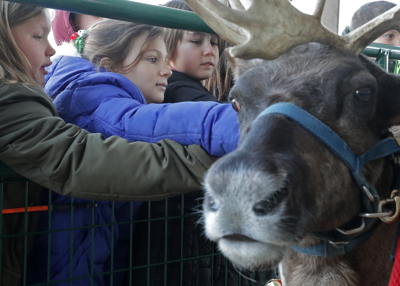
M 184 31 L 169 64 L 172 70 L 203 80 L 211 77 L 218 60 L 217 36 Z

